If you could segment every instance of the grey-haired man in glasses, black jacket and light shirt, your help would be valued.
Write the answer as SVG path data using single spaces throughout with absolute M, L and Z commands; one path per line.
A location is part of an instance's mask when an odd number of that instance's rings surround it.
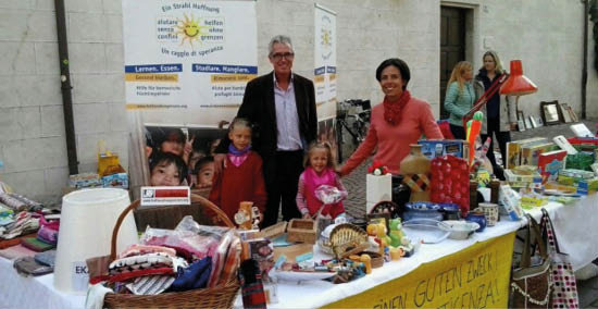
M 247 84 L 237 113 L 253 124 L 252 149 L 263 160 L 267 203 L 262 228 L 276 223 L 281 203 L 283 220 L 301 217 L 295 202 L 297 184 L 303 154 L 317 131 L 313 83 L 291 72 L 295 52 L 290 38 L 273 37 L 267 58 L 274 71 Z M 225 153 L 228 145 L 224 137 L 216 152 Z M 225 154 L 214 159 L 220 172 Z

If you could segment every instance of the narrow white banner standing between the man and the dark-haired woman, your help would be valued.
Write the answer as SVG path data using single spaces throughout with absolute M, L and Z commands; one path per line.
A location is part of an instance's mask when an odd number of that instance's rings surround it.
M 314 87 L 320 119 L 336 115 L 336 13 L 315 4 Z

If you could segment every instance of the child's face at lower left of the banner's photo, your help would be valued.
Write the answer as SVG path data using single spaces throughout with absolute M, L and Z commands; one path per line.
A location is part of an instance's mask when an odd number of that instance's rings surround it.
M 170 152 L 154 152 L 150 157 L 152 186 L 179 186 L 187 176 L 187 165 L 180 157 Z

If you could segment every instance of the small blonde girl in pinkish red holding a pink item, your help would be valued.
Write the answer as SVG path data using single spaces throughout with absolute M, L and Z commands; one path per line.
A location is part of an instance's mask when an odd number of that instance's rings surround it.
M 347 190 L 335 173 L 335 162 L 332 156 L 331 145 L 327 143 L 314 143 L 310 146 L 304 163 L 306 171 L 299 176 L 297 189 L 297 207 L 303 219 L 311 219 L 322 208 L 322 215 L 331 215 L 335 219 L 345 212 L 340 200 L 347 198 Z M 324 205 L 315 196 L 315 189 L 322 185 L 336 187 L 340 191 L 337 202 Z

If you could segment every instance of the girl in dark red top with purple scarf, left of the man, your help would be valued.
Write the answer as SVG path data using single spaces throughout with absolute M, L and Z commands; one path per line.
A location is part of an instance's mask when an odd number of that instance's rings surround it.
M 266 202 L 262 158 L 251 151 L 251 126 L 240 118 L 233 120 L 228 127 L 228 153 L 222 173 L 213 180 L 210 200 L 219 206 L 234 221 L 239 202 L 252 201 L 263 213 Z

